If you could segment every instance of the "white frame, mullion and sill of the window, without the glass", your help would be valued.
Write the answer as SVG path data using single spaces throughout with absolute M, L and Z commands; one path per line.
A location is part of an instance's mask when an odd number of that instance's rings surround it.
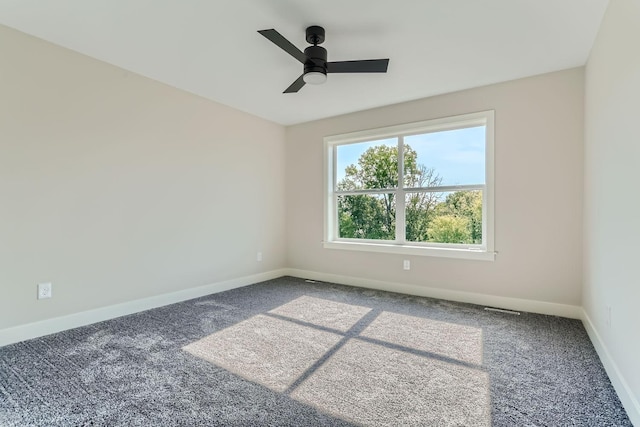
M 353 193 L 396 194 L 396 239 L 379 241 L 340 238 L 338 234 L 337 149 L 339 145 L 369 142 L 387 138 L 398 138 L 399 147 L 403 138 L 431 132 L 485 126 L 485 183 L 484 185 L 456 185 L 433 187 L 434 191 L 482 190 L 482 244 L 460 245 L 451 243 L 406 242 L 404 239 L 405 194 L 415 189 L 403 188 L 403 150 L 399 150 L 399 182 L 397 189 L 361 190 Z M 324 242 L 326 249 L 343 249 L 368 252 L 383 252 L 402 255 L 436 256 L 471 260 L 495 260 L 494 250 L 494 111 L 481 111 L 416 123 L 369 129 L 324 138 Z M 350 192 L 351 193 L 351 192 Z M 341 193 L 342 194 L 342 193 Z

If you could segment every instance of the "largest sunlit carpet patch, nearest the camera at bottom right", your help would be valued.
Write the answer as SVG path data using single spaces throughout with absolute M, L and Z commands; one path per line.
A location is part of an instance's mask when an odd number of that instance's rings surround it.
M 488 374 L 352 339 L 291 397 L 364 425 L 490 426 Z

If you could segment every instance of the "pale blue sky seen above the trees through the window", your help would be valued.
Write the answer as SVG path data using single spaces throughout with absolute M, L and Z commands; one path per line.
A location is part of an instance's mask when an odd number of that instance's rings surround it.
M 442 185 L 484 184 L 485 127 L 477 126 L 443 132 L 412 135 L 405 145 L 418 153 L 418 163 L 434 168 L 442 177 Z M 396 145 L 396 139 L 338 146 L 338 182 L 348 165 L 356 164 L 369 147 Z

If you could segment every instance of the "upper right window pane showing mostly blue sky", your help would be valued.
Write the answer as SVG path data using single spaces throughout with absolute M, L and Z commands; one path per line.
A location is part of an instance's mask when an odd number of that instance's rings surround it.
M 407 187 L 485 183 L 485 126 L 407 136 Z

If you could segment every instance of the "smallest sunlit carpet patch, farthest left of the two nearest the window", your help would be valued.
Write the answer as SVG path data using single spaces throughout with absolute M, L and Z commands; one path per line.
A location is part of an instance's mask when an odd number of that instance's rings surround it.
M 269 313 L 346 332 L 369 311 L 369 307 L 302 296 Z

